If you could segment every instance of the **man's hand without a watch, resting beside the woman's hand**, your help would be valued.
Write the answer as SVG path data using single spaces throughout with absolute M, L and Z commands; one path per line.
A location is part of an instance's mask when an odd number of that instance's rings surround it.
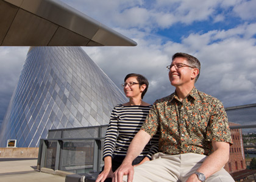
M 133 170 L 132 164 L 123 163 L 114 172 L 114 177 L 112 179 L 112 182 L 122 182 L 124 175 L 127 175 L 128 182 L 132 182 L 133 174 L 134 174 L 134 170 Z

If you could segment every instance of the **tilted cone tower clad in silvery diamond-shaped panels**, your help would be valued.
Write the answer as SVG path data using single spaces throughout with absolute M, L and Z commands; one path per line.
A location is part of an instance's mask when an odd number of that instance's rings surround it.
M 38 147 L 50 129 L 108 124 L 112 108 L 124 102 L 81 47 L 30 47 L 2 123 L 0 147 L 7 139 L 16 139 L 17 147 Z M 65 135 L 87 138 L 83 131 Z

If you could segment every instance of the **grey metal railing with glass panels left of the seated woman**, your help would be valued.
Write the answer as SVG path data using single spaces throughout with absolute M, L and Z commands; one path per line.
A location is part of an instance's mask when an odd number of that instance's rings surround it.
M 48 139 L 40 140 L 37 168 L 73 173 L 99 171 L 106 128 L 107 125 L 49 130 Z

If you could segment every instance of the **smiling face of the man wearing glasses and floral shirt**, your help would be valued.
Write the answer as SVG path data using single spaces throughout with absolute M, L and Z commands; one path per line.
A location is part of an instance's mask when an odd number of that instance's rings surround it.
M 188 65 L 187 60 L 182 57 L 174 58 L 171 65 L 176 65 L 177 63 L 183 63 L 185 65 Z M 177 68 L 177 66 L 172 66 L 169 70 L 169 80 L 172 86 L 183 86 L 193 83 L 192 75 L 193 68 L 190 68 L 188 66 L 183 66 L 181 68 Z

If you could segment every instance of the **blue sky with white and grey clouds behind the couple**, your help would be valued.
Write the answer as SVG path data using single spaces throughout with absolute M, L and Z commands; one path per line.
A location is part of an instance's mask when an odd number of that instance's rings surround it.
M 134 47 L 82 47 L 122 90 L 131 73 L 149 80 L 144 101 L 175 91 L 166 66 L 176 52 L 201 61 L 196 88 L 233 107 L 256 103 L 256 1 L 62 0 L 133 41 Z M 0 122 L 29 47 L 0 47 Z

